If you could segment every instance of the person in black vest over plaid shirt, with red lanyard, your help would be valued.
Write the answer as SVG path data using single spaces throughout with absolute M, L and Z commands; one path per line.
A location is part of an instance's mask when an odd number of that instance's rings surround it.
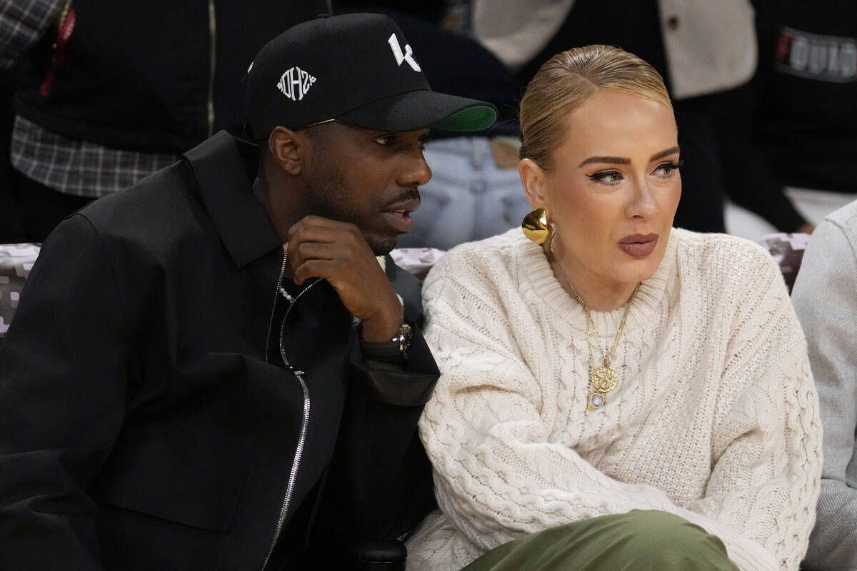
M 11 163 L 27 241 L 243 122 L 241 77 L 324 0 L 6 0 L 0 69 L 16 67 Z

